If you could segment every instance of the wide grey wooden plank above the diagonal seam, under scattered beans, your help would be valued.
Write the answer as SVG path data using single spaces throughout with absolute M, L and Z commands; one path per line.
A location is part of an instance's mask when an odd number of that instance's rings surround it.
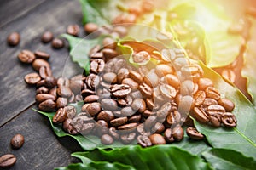
M 0 37 L 0 127 L 34 103 L 35 88 L 27 86 L 23 80 L 33 70 L 31 65 L 22 65 L 17 59 L 20 50 L 40 49 L 51 54 L 49 62 L 54 65 L 54 75 L 60 77 L 68 57 L 67 48 L 53 50 L 50 44 L 40 42 L 40 37 L 44 31 L 53 31 L 58 36 L 69 24 L 79 24 L 81 20 L 78 1 L 55 0 L 42 3 L 1 28 L 4 36 Z M 15 48 L 6 44 L 6 37 L 12 31 L 20 32 L 21 36 L 20 45 Z

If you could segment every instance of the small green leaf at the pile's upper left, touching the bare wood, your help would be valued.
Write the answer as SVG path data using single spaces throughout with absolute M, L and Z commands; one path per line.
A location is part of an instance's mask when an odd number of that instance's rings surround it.
M 79 37 L 73 37 L 68 34 L 62 34 L 61 37 L 64 37 L 69 42 L 70 47 L 70 56 L 73 59 L 73 62 L 77 62 L 81 68 L 84 68 L 86 74 L 90 72 L 90 58 L 88 56 L 90 49 L 96 45 L 102 45 L 102 40 L 105 37 L 110 37 L 107 35 L 102 35 L 96 37 L 95 39 L 89 39 L 86 37 L 84 39 Z

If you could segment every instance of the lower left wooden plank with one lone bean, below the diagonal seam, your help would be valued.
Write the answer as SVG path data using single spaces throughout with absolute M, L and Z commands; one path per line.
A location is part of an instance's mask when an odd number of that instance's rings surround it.
M 10 139 L 17 133 L 24 136 L 25 143 L 19 150 L 13 150 Z M 0 156 L 11 153 L 17 158 L 15 166 L 10 169 L 45 170 L 67 166 L 79 161 L 70 154 L 81 150 L 71 138 L 57 139 L 48 118 L 31 108 L 0 128 Z

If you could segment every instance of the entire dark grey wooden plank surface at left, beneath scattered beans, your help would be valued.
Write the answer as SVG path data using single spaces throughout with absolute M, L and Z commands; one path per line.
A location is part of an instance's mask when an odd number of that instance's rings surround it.
M 56 138 L 49 121 L 32 111 L 37 107 L 35 88 L 27 86 L 23 79 L 33 72 L 32 66 L 22 65 L 17 54 L 22 49 L 48 52 L 54 76 L 60 77 L 68 58 L 67 48 L 53 50 L 50 44 L 40 42 L 40 37 L 44 31 L 58 36 L 69 24 L 80 26 L 81 20 L 76 0 L 0 0 L 0 156 L 12 153 L 17 157 L 11 169 L 45 170 L 78 161 L 70 154 L 81 150 L 79 144 L 70 138 Z M 21 41 L 10 48 L 6 37 L 13 31 L 20 33 Z M 25 136 L 20 150 L 13 150 L 9 144 L 16 133 Z

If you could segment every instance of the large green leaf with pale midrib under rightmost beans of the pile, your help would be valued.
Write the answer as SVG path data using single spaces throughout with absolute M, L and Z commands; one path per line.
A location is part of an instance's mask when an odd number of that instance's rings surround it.
M 256 111 L 251 102 L 214 71 L 201 64 L 205 77 L 211 78 L 215 88 L 223 97 L 231 99 L 236 105 L 232 113 L 236 116 L 237 126 L 234 128 L 210 127 L 195 121 L 195 127 L 203 133 L 214 148 L 232 149 L 245 156 L 256 158 Z

